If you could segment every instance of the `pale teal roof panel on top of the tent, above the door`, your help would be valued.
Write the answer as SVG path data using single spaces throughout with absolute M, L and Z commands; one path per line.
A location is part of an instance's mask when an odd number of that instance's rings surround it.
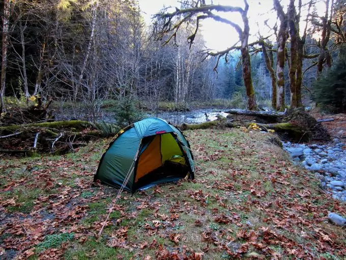
M 134 123 L 138 136 L 147 137 L 162 133 L 174 132 L 174 129 L 163 119 L 146 118 Z

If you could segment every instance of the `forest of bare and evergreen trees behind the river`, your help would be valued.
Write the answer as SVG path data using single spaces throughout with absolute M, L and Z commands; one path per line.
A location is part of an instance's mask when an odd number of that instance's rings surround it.
M 250 35 L 247 1 L 182 1 L 149 23 L 130 0 L 4 0 L 0 111 L 33 105 L 37 96 L 53 100 L 54 111 L 90 121 L 124 103 L 157 112 L 162 102 L 178 109 L 235 100 L 233 107 L 284 110 L 314 99 L 343 111 L 344 86 L 329 91 L 323 79 L 344 62 L 344 4 L 274 0 L 274 25 L 265 22 L 267 35 L 256 28 Z M 243 24 L 222 13 L 241 15 Z M 208 49 L 206 19 L 230 25 L 238 42 Z M 337 100 L 324 100 L 337 91 Z

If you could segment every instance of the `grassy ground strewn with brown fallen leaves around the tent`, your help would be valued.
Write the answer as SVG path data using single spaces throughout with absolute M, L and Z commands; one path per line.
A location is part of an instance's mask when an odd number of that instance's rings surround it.
M 106 141 L 64 157 L 2 159 L 0 258 L 344 258 L 345 231 L 325 216 L 346 215 L 345 204 L 293 166 L 270 134 L 186 135 L 196 180 L 123 193 L 98 239 L 117 192 L 91 185 Z

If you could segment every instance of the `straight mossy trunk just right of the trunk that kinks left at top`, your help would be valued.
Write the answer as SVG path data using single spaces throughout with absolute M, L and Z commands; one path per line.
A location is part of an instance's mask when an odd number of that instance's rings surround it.
M 298 53 L 298 38 L 297 38 L 297 24 L 296 24 L 296 8 L 294 5 L 295 0 L 290 0 L 289 9 L 287 11 L 287 16 L 289 19 L 289 33 L 291 37 L 291 66 L 290 66 L 290 90 L 291 90 L 291 108 L 298 107 L 297 99 L 297 81 L 296 81 L 296 71 L 297 71 L 297 53 Z

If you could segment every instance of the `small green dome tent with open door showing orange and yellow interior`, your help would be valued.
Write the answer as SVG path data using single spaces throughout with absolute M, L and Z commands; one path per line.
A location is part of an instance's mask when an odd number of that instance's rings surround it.
M 194 178 L 190 144 L 175 126 L 146 118 L 120 131 L 102 155 L 94 177 L 135 192 L 188 176 Z M 125 181 L 124 181 L 125 180 Z

